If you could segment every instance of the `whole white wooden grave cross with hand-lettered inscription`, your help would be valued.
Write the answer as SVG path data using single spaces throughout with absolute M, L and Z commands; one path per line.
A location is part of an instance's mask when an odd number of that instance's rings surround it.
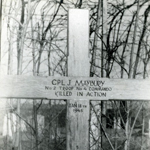
M 90 78 L 89 12 L 68 20 L 68 77 L 1 76 L 0 97 L 67 99 L 67 150 L 88 150 L 89 100 L 150 100 L 150 81 Z

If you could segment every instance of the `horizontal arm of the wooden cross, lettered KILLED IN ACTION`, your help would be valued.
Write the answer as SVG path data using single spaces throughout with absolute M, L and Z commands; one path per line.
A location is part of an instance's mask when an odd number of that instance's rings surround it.
M 1 76 L 0 97 L 150 100 L 150 81 L 91 77 Z

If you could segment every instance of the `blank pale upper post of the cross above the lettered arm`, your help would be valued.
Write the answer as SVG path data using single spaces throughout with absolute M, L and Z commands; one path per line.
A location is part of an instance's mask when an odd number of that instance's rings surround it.
M 89 13 L 70 9 L 68 16 L 68 76 L 89 76 Z M 80 73 L 80 74 L 79 74 Z

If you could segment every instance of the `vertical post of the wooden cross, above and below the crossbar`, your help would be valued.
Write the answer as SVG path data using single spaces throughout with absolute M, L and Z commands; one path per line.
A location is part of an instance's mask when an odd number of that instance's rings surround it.
M 68 76 L 88 77 L 89 11 L 70 9 L 68 15 Z M 82 89 L 84 90 L 84 89 Z M 79 94 L 82 95 L 81 93 Z M 89 149 L 89 100 L 67 101 L 67 150 Z

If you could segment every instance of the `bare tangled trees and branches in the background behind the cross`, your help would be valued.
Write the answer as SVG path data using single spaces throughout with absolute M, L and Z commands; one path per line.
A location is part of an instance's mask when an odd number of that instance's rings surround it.
M 90 12 L 89 76 L 149 78 L 150 0 L 2 0 L 1 72 L 66 76 L 70 8 Z M 1 128 L 1 149 L 65 149 L 65 104 L 5 101 L 1 120 L 8 128 L 6 134 Z M 90 149 L 148 150 L 148 110 L 148 102 L 91 101 Z

